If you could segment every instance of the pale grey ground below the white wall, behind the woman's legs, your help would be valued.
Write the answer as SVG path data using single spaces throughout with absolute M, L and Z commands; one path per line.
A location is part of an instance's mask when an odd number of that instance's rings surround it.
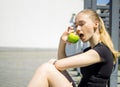
M 0 87 L 27 87 L 37 67 L 56 57 L 57 50 L 0 50 Z

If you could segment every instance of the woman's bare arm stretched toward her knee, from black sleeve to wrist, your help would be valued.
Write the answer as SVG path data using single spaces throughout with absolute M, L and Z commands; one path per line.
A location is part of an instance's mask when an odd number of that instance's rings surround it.
M 91 49 L 85 53 L 58 60 L 55 67 L 63 71 L 68 68 L 84 67 L 101 61 L 99 54 Z

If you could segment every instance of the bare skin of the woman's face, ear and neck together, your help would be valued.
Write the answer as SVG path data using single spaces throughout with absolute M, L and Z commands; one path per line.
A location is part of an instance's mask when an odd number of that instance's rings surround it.
M 83 42 L 89 41 L 91 47 L 94 47 L 100 42 L 100 33 L 98 29 L 99 23 L 93 22 L 90 17 L 86 14 L 78 14 L 76 17 L 77 34 L 81 36 Z

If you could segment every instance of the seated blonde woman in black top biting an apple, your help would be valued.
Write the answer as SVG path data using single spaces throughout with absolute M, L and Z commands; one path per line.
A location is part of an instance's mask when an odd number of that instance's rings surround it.
M 79 12 L 75 18 L 76 33 L 83 42 L 89 41 L 90 47 L 84 53 L 66 58 L 65 46 L 72 27 L 60 38 L 58 60 L 50 60 L 41 65 L 28 87 L 75 87 L 65 71 L 81 67 L 82 79 L 78 87 L 106 87 L 119 52 L 115 51 L 102 19 L 90 9 Z M 64 75 L 63 75 L 64 74 Z M 66 74 L 66 75 L 65 75 Z

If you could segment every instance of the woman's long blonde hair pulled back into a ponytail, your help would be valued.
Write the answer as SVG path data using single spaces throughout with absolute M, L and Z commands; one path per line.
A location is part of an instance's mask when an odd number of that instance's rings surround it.
M 114 49 L 113 42 L 105 28 L 102 18 L 95 11 L 93 11 L 91 9 L 85 9 L 85 10 L 81 11 L 80 13 L 86 13 L 90 16 L 90 18 L 94 22 L 95 21 L 99 22 L 100 40 L 110 49 L 110 51 L 112 52 L 112 54 L 114 56 L 114 61 L 116 62 L 117 58 L 120 56 L 120 52 L 118 52 Z

